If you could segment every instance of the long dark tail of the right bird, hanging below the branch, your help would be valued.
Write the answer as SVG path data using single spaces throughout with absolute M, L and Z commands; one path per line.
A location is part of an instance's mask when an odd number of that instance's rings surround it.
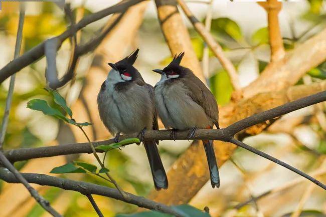
M 202 141 L 204 144 L 208 167 L 210 170 L 212 187 L 214 188 L 216 186 L 217 188 L 219 188 L 220 187 L 220 175 L 219 175 L 219 169 L 218 169 L 217 163 L 216 163 L 213 140 L 202 140 Z

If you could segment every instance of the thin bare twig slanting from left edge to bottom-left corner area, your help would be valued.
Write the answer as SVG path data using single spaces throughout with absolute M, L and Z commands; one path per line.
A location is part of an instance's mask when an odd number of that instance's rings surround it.
M 13 176 L 16 178 L 18 183 L 24 184 L 24 186 L 30 191 L 31 195 L 36 199 L 40 205 L 47 210 L 52 216 L 55 217 L 63 217 L 59 214 L 52 206 L 50 205 L 49 201 L 44 199 L 31 185 L 30 183 L 24 178 L 24 176 L 10 163 L 10 161 L 6 158 L 3 152 L 0 151 L 0 160 L 2 164 L 8 168 L 9 171 L 12 172 Z

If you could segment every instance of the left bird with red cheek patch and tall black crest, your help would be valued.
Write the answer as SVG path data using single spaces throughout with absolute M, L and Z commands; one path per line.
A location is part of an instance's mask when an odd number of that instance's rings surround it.
M 102 122 L 120 140 L 120 133 L 139 132 L 141 138 L 146 129 L 158 129 L 154 105 L 153 87 L 144 82 L 138 70 L 133 67 L 139 49 L 116 63 L 103 82 L 97 96 L 98 112 Z M 142 140 L 142 139 L 141 139 Z M 158 141 L 142 142 L 151 169 L 156 190 L 168 188 L 168 178 L 157 149 Z

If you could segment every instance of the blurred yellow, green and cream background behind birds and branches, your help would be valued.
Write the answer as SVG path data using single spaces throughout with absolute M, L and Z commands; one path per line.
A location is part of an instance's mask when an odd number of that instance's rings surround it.
M 117 1 L 103 0 L 72 1 L 71 8 L 78 21 L 84 16 L 116 3 Z M 63 10 L 55 3 L 27 2 L 25 4 L 22 54 L 44 40 L 61 34 L 69 26 Z M 204 0 L 191 0 L 187 1 L 187 5 L 203 22 L 208 11 L 212 10 L 211 33 L 235 65 L 241 87 L 254 81 L 270 62 L 265 10 L 255 2 L 243 1 L 216 0 L 211 3 Z M 0 68 L 14 57 L 18 12 L 19 3 L 2 2 Z M 59 89 L 71 106 L 76 121 L 94 123 L 93 126 L 85 128 L 92 140 L 110 138 L 99 120 L 96 106 L 97 93 L 109 71 L 106 63 L 117 61 L 139 47 L 140 52 L 135 67 L 147 83 L 154 85 L 159 80 L 159 76 L 151 70 L 164 67 L 172 58 L 157 20 L 155 4 L 148 2 L 131 16 L 134 16 L 134 19 L 123 21 L 126 28 L 115 36 L 120 38 L 120 41 L 115 42 L 112 37 L 105 38 L 95 51 L 80 58 L 75 79 Z M 143 20 L 139 21 L 138 18 L 142 16 Z M 186 17 L 183 14 L 182 16 L 189 28 L 192 46 L 201 61 L 205 43 L 193 30 Z M 83 44 L 98 35 L 109 19 L 110 17 L 106 17 L 82 29 L 77 35 L 78 42 Z M 283 2 L 279 23 L 284 48 L 286 51 L 291 51 L 325 28 L 326 1 Z M 134 25 L 139 25 L 139 29 L 131 28 Z M 126 37 L 130 34 L 134 37 L 128 41 Z M 66 40 L 57 54 L 59 76 L 66 73 L 69 57 L 70 43 Z M 209 70 L 204 72 L 205 79 L 219 106 L 223 107 L 230 102 L 233 88 L 228 74 L 222 69 L 218 60 L 211 53 L 209 57 Z M 13 106 L 4 143 L 6 150 L 86 141 L 74 126 L 68 126 L 41 112 L 26 108 L 27 101 L 30 99 L 50 100 L 43 89 L 46 85 L 45 68 L 46 60 L 42 58 L 17 73 Z M 297 85 L 324 79 L 326 79 L 326 62 L 312 68 L 297 82 Z M 9 79 L 0 85 L 1 119 L 8 88 Z M 315 174 L 319 180 L 325 182 L 324 111 L 325 104 L 322 104 L 290 113 L 259 135 L 245 138 L 244 142 L 309 174 Z M 190 144 L 191 142 L 188 141 L 160 142 L 159 150 L 167 170 Z M 48 173 L 55 166 L 77 159 L 97 164 L 92 155 L 81 154 L 33 159 L 28 162 L 17 162 L 15 166 L 24 172 Z M 133 144 L 122 150 L 109 151 L 106 159 L 111 174 L 124 190 L 137 195 L 148 195 L 153 185 L 146 154 L 141 145 Z M 212 189 L 210 183 L 207 183 L 191 199 L 190 204 L 199 209 L 209 206 L 212 216 L 326 216 L 324 190 L 246 150 L 236 149 L 232 157 L 220 168 L 220 175 L 219 189 Z M 107 182 L 87 174 L 61 176 L 108 185 Z M 78 192 L 47 186 L 35 187 L 66 217 L 97 216 L 88 199 Z M 0 216 L 2 217 L 49 216 L 38 204 L 35 204 L 34 199 L 20 185 L 8 184 L 0 180 L 0 192 Z M 259 195 L 262 196 L 255 201 L 242 204 Z M 94 198 L 105 216 L 137 210 L 134 205 L 114 199 L 96 195 Z

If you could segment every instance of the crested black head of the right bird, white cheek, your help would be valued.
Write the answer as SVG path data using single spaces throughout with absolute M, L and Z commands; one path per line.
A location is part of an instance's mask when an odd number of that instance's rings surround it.
M 185 67 L 180 66 L 181 60 L 184 57 L 185 52 L 180 53 L 178 56 L 175 55 L 171 63 L 164 68 L 163 70 L 154 69 L 154 72 L 157 72 L 162 75 L 166 75 L 168 78 L 179 78 L 185 72 Z

